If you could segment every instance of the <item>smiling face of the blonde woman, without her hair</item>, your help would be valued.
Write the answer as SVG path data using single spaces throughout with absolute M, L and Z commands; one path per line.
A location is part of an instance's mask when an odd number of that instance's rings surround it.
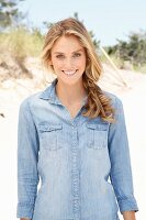
M 76 36 L 61 36 L 52 48 L 49 65 L 53 65 L 58 81 L 74 85 L 82 82 L 86 59 L 86 51 Z

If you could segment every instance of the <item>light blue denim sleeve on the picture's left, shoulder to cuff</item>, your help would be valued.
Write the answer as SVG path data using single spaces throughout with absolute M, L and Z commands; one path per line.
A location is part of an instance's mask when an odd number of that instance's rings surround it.
M 38 138 L 29 99 L 20 107 L 18 125 L 18 218 L 32 219 L 37 194 Z

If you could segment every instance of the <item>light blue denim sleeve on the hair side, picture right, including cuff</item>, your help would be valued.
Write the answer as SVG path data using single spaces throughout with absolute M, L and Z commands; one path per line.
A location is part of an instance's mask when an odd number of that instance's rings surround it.
M 115 101 L 115 122 L 111 123 L 109 131 L 110 177 L 120 211 L 137 211 L 123 105 L 119 98 Z

